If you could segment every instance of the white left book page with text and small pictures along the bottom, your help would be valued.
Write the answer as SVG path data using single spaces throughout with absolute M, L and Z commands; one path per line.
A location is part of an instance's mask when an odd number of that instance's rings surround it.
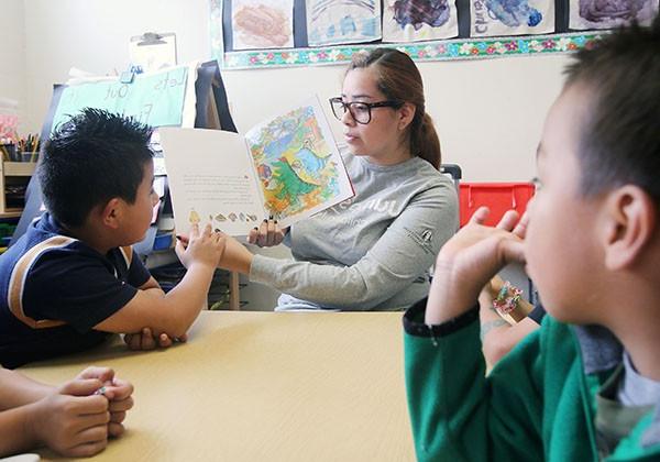
M 210 222 L 246 235 L 266 216 L 242 135 L 221 130 L 162 128 L 174 220 L 178 233 Z

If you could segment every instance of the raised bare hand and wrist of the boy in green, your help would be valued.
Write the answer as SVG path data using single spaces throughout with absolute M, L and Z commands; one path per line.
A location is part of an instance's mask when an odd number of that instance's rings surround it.
M 482 224 L 487 216 L 487 208 L 477 209 L 468 226 L 440 250 L 426 323 L 442 323 L 469 310 L 499 270 L 512 262 L 525 262 L 522 241 L 512 232 L 518 222 L 517 212 L 507 211 L 496 228 Z M 525 234 L 524 228 L 517 231 Z

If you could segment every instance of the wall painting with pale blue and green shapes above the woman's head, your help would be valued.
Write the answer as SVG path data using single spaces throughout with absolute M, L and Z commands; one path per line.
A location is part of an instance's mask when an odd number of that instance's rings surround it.
M 381 38 L 381 0 L 306 0 L 309 46 Z

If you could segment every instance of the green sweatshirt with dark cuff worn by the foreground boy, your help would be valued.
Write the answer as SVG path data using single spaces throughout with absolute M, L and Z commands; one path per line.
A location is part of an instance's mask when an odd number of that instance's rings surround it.
M 546 316 L 488 374 L 477 308 L 426 326 L 404 317 L 408 407 L 419 461 L 597 461 L 596 395 L 622 361 L 603 328 Z M 660 416 L 646 415 L 607 461 L 660 461 Z

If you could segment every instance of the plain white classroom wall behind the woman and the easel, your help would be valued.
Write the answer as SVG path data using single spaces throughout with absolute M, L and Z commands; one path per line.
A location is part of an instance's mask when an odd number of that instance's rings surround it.
M 46 112 L 53 82 L 66 80 L 70 67 L 121 72 L 132 35 L 175 32 L 179 62 L 210 57 L 208 0 L 23 1 L 9 0 L 15 10 L 24 7 L 24 106 L 32 130 Z M 420 64 L 443 162 L 460 164 L 465 180 L 529 180 L 544 113 L 560 91 L 566 62 L 566 56 L 536 56 Z M 341 75 L 341 66 L 324 66 L 227 70 L 223 77 L 235 122 L 245 130 L 311 92 L 321 99 L 338 95 Z M 20 80 L 12 85 L 21 95 Z M 340 124 L 333 122 L 333 129 L 341 136 Z

